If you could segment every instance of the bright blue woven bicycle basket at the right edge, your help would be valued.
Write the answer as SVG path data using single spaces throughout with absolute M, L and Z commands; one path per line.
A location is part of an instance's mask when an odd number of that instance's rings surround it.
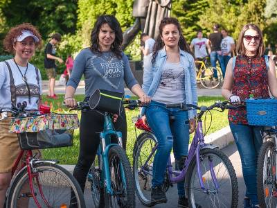
M 247 99 L 249 125 L 277 125 L 277 99 Z

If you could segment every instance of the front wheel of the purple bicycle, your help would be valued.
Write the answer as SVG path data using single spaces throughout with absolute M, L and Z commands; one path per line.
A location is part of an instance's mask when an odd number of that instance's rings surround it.
M 204 193 L 200 187 L 195 156 L 186 174 L 186 182 L 188 182 L 188 207 L 195 208 L 197 205 L 202 207 L 238 207 L 238 181 L 229 158 L 220 150 L 215 149 L 201 150 L 199 157 L 202 179 L 208 191 Z M 218 161 L 215 159 L 218 159 Z M 209 162 L 205 165 L 204 163 L 207 160 Z M 219 189 L 217 190 L 211 178 L 211 171 L 209 171 L 210 162 L 213 162 L 213 170 L 217 174 L 216 177 L 219 184 Z M 224 168 L 224 170 L 221 168 Z M 218 177 L 220 173 L 224 175 Z

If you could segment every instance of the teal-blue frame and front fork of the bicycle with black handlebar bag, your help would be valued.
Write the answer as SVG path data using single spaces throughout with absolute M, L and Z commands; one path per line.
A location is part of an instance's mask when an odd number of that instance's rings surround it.
M 114 191 L 111 189 L 111 173 L 109 172 L 109 161 L 108 161 L 109 149 L 112 146 L 116 146 L 116 145 L 123 147 L 122 133 L 114 130 L 114 125 L 112 124 L 111 116 L 109 113 L 105 112 L 104 116 L 105 116 L 104 130 L 100 132 L 100 146 L 98 148 L 98 151 L 100 151 L 100 153 L 98 153 L 98 155 L 101 155 L 102 157 L 102 164 L 100 164 L 103 167 L 101 178 L 102 180 L 104 180 L 104 184 L 106 185 L 106 189 L 107 189 L 106 191 L 110 195 L 114 195 Z M 111 143 L 111 135 L 116 135 L 118 139 L 118 144 Z M 121 175 L 124 175 L 122 166 L 120 166 L 120 171 L 122 173 Z M 123 177 L 123 183 L 125 183 L 124 177 Z

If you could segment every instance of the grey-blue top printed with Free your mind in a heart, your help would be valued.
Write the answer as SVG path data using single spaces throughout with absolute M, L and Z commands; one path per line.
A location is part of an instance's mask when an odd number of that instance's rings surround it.
M 74 66 L 67 86 L 75 89 L 84 74 L 85 96 L 89 97 L 96 89 L 124 93 L 124 81 L 129 89 L 137 84 L 129 67 L 127 56 L 116 58 L 111 52 L 93 53 L 83 49 L 74 60 Z

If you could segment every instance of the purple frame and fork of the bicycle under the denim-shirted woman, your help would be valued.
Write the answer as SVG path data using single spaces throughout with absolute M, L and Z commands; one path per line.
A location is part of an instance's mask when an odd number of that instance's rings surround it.
M 156 144 L 154 146 L 154 148 L 152 149 L 152 152 L 150 153 L 148 159 L 146 159 L 145 164 L 143 164 L 143 166 L 141 167 L 140 172 L 142 171 L 143 173 L 150 174 L 149 171 L 147 171 L 145 169 L 145 167 L 148 164 L 148 161 L 150 160 L 152 155 L 154 155 L 154 152 L 155 152 L 155 150 L 157 150 L 157 147 L 158 147 L 158 144 Z M 186 159 L 186 162 L 184 164 L 184 169 L 182 171 L 173 171 L 172 170 L 172 165 L 171 165 L 171 159 L 170 159 L 170 157 L 168 157 L 167 166 L 168 166 L 169 182 L 177 183 L 177 182 L 184 181 L 184 179 L 186 178 L 186 172 L 188 171 L 188 167 L 190 166 L 190 162 L 192 162 L 193 157 L 195 155 L 196 156 L 196 165 L 197 165 L 197 175 L 199 177 L 199 183 L 200 183 L 201 189 L 204 192 L 208 192 L 208 189 L 206 189 L 204 187 L 204 181 L 203 181 L 203 178 L 202 178 L 202 170 L 201 170 L 201 167 L 200 167 L 200 150 L 202 150 L 204 148 L 213 148 L 214 149 L 214 148 L 218 148 L 218 147 L 217 146 L 212 146 L 210 144 L 205 144 L 203 128 L 202 128 L 202 120 L 197 119 L 197 129 L 195 131 L 195 136 L 193 137 L 193 142 L 190 146 L 190 150 L 188 151 L 188 158 Z M 215 185 L 215 188 L 218 189 L 219 185 L 218 185 L 218 182 L 217 182 L 217 178 L 215 177 L 215 172 L 213 171 L 213 162 L 210 162 L 209 166 L 210 166 L 210 171 L 211 171 L 213 184 Z M 174 177 L 173 175 L 176 175 L 176 177 Z

